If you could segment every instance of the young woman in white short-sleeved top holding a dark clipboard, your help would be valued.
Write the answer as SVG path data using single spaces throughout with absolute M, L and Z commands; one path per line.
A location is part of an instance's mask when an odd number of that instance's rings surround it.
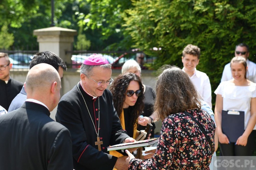
M 222 82 L 214 91 L 219 146 L 223 156 L 252 156 L 256 134 L 256 84 L 246 79 L 245 58 L 233 57 L 230 67 L 233 79 Z M 222 131 L 222 110 L 244 111 L 244 133 L 236 142 L 230 142 Z

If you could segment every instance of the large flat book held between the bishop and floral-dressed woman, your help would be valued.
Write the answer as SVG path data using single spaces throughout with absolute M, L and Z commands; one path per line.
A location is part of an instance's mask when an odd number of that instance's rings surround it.
M 121 143 L 121 144 L 118 144 L 118 145 L 113 145 L 113 146 L 108 147 L 108 151 L 145 147 L 145 146 L 157 143 L 158 140 L 159 140 L 159 138 L 140 140 L 140 141 L 130 142 L 130 143 Z

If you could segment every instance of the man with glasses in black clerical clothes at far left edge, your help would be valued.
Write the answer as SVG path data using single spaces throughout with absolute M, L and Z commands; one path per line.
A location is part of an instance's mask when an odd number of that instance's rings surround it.
M 0 105 L 6 110 L 23 86 L 22 82 L 10 77 L 11 68 L 12 63 L 8 54 L 0 52 Z

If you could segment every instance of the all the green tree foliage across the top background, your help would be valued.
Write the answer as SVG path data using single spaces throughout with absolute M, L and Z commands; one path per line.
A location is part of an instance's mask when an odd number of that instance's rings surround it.
M 51 24 L 49 0 L 3 0 L 0 11 L 0 27 L 8 23 L 16 44 L 36 44 L 32 31 Z M 90 50 L 139 48 L 157 57 L 157 69 L 182 67 L 184 47 L 197 45 L 197 68 L 208 74 L 213 90 L 237 44 L 248 44 L 249 59 L 256 61 L 255 16 L 255 0 L 55 0 L 55 25 L 84 28 Z

